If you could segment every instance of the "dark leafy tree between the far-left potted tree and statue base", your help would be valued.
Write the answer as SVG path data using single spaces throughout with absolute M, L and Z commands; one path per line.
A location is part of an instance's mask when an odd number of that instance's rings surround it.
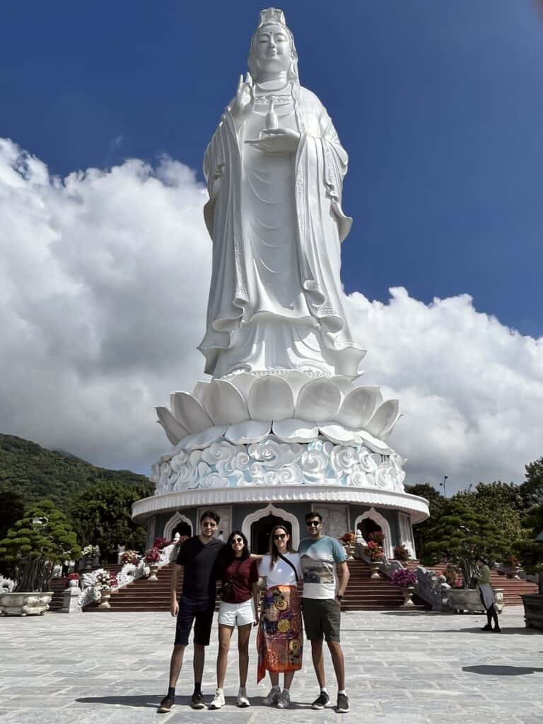
M 132 503 L 153 494 L 151 483 L 95 483 L 72 505 L 72 521 L 83 544 L 98 545 L 109 563 L 117 561 L 117 545 L 143 550 L 146 529 L 132 521 Z

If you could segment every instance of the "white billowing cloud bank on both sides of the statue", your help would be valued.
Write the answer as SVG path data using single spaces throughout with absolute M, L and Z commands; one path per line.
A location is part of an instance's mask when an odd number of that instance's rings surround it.
M 146 471 L 169 448 L 154 405 L 203 376 L 211 242 L 184 164 L 65 179 L 0 139 L 0 431 Z M 408 479 L 520 481 L 543 454 L 543 340 L 462 295 L 347 300 L 366 384 L 399 397 Z

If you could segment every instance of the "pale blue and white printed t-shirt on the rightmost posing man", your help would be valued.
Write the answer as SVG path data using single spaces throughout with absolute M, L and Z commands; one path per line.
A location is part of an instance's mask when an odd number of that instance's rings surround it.
M 336 565 L 347 560 L 340 542 L 330 536 L 315 541 L 305 538 L 298 555 L 303 571 L 303 598 L 335 598 Z

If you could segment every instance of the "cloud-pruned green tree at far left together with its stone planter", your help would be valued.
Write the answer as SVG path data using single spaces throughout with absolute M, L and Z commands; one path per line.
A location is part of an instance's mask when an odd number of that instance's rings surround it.
M 0 541 L 0 556 L 14 565 L 17 584 L 0 594 L 4 615 L 43 615 L 53 592 L 54 568 L 69 555 L 79 557 L 75 533 L 51 500 L 36 503 Z

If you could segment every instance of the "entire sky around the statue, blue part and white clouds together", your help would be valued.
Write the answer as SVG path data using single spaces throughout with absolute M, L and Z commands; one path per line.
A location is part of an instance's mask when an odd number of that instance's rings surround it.
M 261 7 L 3 8 L 1 432 L 141 472 L 168 449 L 153 408 L 203 379 L 201 161 Z M 543 454 L 543 0 L 282 9 L 350 155 L 345 310 L 365 384 L 405 413 L 408 481 L 522 481 Z

